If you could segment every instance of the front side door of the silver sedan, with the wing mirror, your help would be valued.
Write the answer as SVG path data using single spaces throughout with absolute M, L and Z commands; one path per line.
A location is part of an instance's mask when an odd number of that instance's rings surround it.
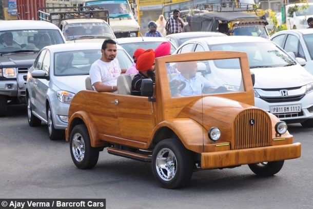
M 46 114 L 46 98 L 47 92 L 49 90 L 49 73 L 50 73 L 50 51 L 46 50 L 45 56 L 42 61 L 41 68 L 38 70 L 43 70 L 46 72 L 47 78 L 35 78 L 34 83 L 36 83 L 37 88 L 35 89 L 36 99 L 37 99 L 37 113 L 47 119 Z

